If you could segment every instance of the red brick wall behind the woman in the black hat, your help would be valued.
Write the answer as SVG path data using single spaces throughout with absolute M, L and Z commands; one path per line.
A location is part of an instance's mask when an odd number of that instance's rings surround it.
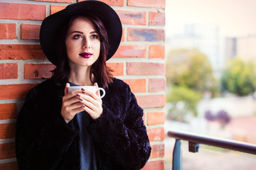
M 29 89 L 51 76 L 39 45 L 41 21 L 76 0 L 0 2 L 0 169 L 17 169 L 15 122 Z M 122 42 L 107 63 L 144 108 L 152 152 L 144 170 L 164 169 L 165 0 L 104 0 L 123 24 Z M 59 4 L 58 4 L 59 3 Z

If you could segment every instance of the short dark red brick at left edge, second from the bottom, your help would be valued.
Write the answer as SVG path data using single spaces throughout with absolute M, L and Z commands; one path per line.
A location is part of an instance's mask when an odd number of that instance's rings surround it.
M 15 158 L 15 143 L 3 143 L 0 144 L 0 159 L 11 159 Z

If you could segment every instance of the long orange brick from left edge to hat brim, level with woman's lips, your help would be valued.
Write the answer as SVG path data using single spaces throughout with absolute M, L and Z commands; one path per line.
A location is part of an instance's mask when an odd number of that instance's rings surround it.
M 46 59 L 40 45 L 0 45 L 0 60 Z

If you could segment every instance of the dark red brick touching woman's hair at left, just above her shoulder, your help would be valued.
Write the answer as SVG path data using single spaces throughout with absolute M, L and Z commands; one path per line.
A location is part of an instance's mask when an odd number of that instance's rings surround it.
M 50 72 L 55 69 L 53 64 L 25 64 L 24 79 L 47 79 L 52 77 Z

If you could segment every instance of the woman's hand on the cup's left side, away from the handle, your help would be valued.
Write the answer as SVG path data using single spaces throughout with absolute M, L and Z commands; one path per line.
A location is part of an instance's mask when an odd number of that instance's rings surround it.
M 85 111 L 84 108 L 82 108 L 82 103 L 80 102 L 79 96 L 82 91 L 71 91 L 68 93 L 69 86 L 70 84 L 68 83 L 65 86 L 65 96 L 63 96 L 63 104 L 61 107 L 61 115 L 66 123 L 69 123 L 77 113 Z

